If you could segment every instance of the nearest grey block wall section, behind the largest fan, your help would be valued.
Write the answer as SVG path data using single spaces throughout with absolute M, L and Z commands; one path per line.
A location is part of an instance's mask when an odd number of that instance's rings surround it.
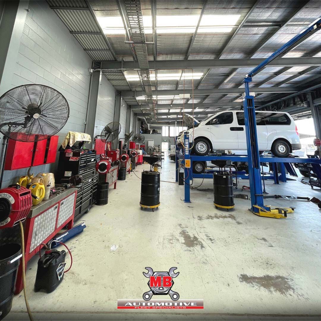
M 88 68 L 92 61 L 46 1 L 30 1 L 29 9 L 11 85 L 45 84 L 66 97 L 70 117 L 59 132 L 61 143 L 68 131 L 84 130 L 90 83 Z M 37 166 L 32 172 L 54 172 L 55 168 L 56 164 Z M 26 171 L 5 171 L 3 186 L 16 182 Z

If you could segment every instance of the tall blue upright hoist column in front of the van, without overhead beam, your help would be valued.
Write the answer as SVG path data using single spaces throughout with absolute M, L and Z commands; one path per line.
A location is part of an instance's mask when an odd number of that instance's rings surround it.
M 249 83 L 251 81 L 251 77 L 247 77 L 244 79 L 245 97 L 243 98 L 243 106 L 247 144 L 248 174 L 250 178 L 250 193 L 252 205 L 251 210 L 253 212 L 258 212 L 258 209 L 253 207 L 253 205 L 258 205 L 263 208 L 265 207 L 263 205 L 263 191 L 261 184 L 260 155 L 257 144 L 254 96 L 250 95 L 249 88 Z

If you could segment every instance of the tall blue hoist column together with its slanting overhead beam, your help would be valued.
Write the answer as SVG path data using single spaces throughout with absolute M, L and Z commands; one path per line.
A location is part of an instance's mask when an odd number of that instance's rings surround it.
M 249 179 L 250 179 L 250 192 L 251 192 L 251 211 L 253 213 L 260 213 L 261 209 L 263 211 L 270 211 L 269 207 L 264 206 L 263 191 L 261 183 L 261 171 L 260 171 L 260 155 L 257 143 L 257 132 L 256 132 L 256 117 L 255 117 L 255 105 L 254 96 L 250 95 L 249 83 L 252 81 L 252 77 L 256 75 L 260 70 L 262 70 L 266 65 L 268 65 L 276 57 L 280 56 L 291 50 L 303 39 L 308 38 L 321 28 L 321 18 L 313 22 L 306 30 L 303 30 L 298 35 L 293 37 L 281 48 L 276 50 L 271 56 L 266 58 L 260 65 L 254 68 L 247 76 L 244 78 L 245 85 L 245 96 L 243 98 L 244 106 L 244 117 L 245 117 L 245 131 L 247 140 L 247 158 L 248 158 L 248 169 L 249 169 Z

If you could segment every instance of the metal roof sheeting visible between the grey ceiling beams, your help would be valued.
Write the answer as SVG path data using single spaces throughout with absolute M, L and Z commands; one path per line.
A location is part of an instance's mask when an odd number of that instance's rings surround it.
M 86 7 L 85 1 L 69 1 L 69 0 L 48 0 L 51 6 L 60 7 Z M 306 26 L 321 16 L 321 1 L 311 0 L 304 8 L 300 0 L 258 0 L 256 8 L 247 18 L 245 26 L 235 35 L 229 46 L 226 47 L 229 39 L 237 29 L 238 25 L 247 13 L 251 10 L 256 0 L 209 0 L 204 11 L 204 15 L 208 14 L 239 14 L 239 19 L 235 26 L 231 27 L 229 32 L 212 32 L 204 33 L 202 28 L 199 28 L 195 37 L 195 41 L 190 50 L 188 59 L 215 59 L 217 57 L 223 58 L 265 58 L 281 47 L 285 42 L 291 39 L 294 35 L 305 29 Z M 94 13 L 98 17 L 119 17 L 118 5 L 115 0 L 92 0 L 90 1 Z M 157 15 L 189 15 L 198 16 L 203 7 L 203 0 L 162 0 L 156 2 Z M 151 15 L 150 0 L 142 0 L 141 8 L 143 15 Z M 291 21 L 289 17 L 299 10 Z M 80 32 L 99 32 L 96 22 L 91 16 L 89 10 L 65 10 L 55 9 L 60 19 L 65 23 L 70 31 Z M 283 24 L 282 31 L 278 32 Z M 253 26 L 251 26 L 253 25 Z M 277 32 L 276 32 L 277 31 Z M 88 35 L 77 34 L 74 35 L 84 49 L 108 49 L 103 35 Z M 166 34 L 161 30 L 157 31 L 157 59 L 158 60 L 183 60 L 186 58 L 188 48 L 191 43 L 193 32 L 187 33 L 172 33 Z M 125 35 L 107 35 L 111 48 L 114 50 L 118 60 L 133 60 L 133 52 L 130 45 L 126 44 Z M 128 39 L 127 39 L 128 40 Z M 152 42 L 151 34 L 146 34 L 146 41 Z M 256 52 L 257 48 L 264 46 Z M 225 48 L 226 47 L 226 48 Z M 222 52 L 225 48 L 224 52 Z M 321 32 L 315 33 L 312 37 L 302 42 L 295 49 L 288 52 L 286 57 L 301 57 L 308 56 L 309 53 L 314 53 L 315 56 L 321 57 L 321 50 L 318 53 L 317 49 L 321 49 Z M 153 60 L 153 46 L 147 45 L 149 65 L 152 68 Z M 95 61 L 111 61 L 114 60 L 111 52 L 108 51 L 89 51 L 88 54 Z M 284 82 L 290 79 L 290 82 L 285 82 L 283 86 L 293 84 L 300 84 L 315 77 L 319 69 L 313 70 L 304 74 L 304 70 L 308 67 L 284 68 L 286 71 L 280 74 L 281 67 L 267 67 L 253 79 L 252 85 L 262 85 L 264 87 L 274 86 L 279 82 Z M 205 79 L 195 79 L 194 88 L 237 88 L 241 86 L 244 76 L 252 68 L 238 68 L 236 74 L 228 81 L 224 82 L 226 78 L 235 71 L 235 69 L 215 69 L 210 71 Z M 194 72 L 203 72 L 208 69 L 194 69 Z M 181 73 L 179 70 L 158 71 L 158 74 Z M 303 73 L 303 74 L 302 74 Z M 129 88 L 126 78 L 122 72 L 108 72 L 104 73 L 108 80 L 117 90 L 122 88 Z M 137 71 L 125 71 L 125 74 L 136 74 Z M 293 79 L 293 75 L 298 77 Z M 273 77 L 274 76 L 274 77 Z M 312 79 L 312 78 L 311 78 Z M 266 82 L 266 83 L 265 83 Z M 141 82 L 139 80 L 130 81 L 132 90 L 142 90 Z M 155 82 L 152 80 L 153 90 L 155 90 Z M 183 80 L 178 84 L 177 79 L 158 80 L 158 95 L 161 95 L 161 90 L 167 89 L 183 89 Z M 185 89 L 191 89 L 192 82 L 185 81 Z M 128 90 L 128 89 L 126 89 Z M 275 95 L 274 95 L 275 96 Z M 194 101 L 216 102 L 233 101 L 239 95 L 210 95 L 210 96 L 195 96 Z M 273 97 L 273 94 L 260 94 L 259 100 L 265 100 Z M 126 98 L 128 104 L 137 104 L 133 98 Z M 187 100 L 174 99 L 174 103 L 187 102 Z M 171 103 L 169 99 L 159 99 L 158 105 L 162 103 Z

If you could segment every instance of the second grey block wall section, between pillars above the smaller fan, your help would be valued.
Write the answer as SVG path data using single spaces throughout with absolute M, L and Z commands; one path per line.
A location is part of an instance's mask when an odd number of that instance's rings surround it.
M 98 90 L 95 134 L 100 135 L 103 128 L 114 121 L 116 90 L 107 80 L 106 76 L 101 76 Z

